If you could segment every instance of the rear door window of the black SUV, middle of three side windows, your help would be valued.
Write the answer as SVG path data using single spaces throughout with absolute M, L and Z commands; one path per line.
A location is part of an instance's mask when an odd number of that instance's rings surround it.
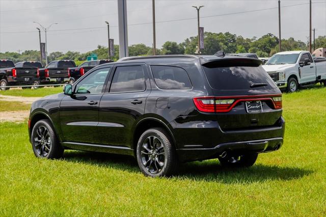
M 110 93 L 139 92 L 145 90 L 145 76 L 142 66 L 117 67 L 112 79 Z

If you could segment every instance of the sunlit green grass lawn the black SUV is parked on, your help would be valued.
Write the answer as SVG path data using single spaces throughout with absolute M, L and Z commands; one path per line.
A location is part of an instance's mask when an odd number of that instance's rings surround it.
M 0 216 L 325 216 L 326 88 L 283 95 L 283 147 L 249 169 L 218 160 L 147 178 L 132 157 L 37 159 L 26 124 L 0 123 Z

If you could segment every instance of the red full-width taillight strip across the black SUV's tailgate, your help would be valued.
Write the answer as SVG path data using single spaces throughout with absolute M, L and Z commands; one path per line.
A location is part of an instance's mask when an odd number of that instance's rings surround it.
M 194 103 L 200 112 L 225 113 L 225 112 L 230 112 L 238 102 L 255 101 L 255 100 L 273 101 L 275 109 L 282 108 L 281 95 L 195 97 Z

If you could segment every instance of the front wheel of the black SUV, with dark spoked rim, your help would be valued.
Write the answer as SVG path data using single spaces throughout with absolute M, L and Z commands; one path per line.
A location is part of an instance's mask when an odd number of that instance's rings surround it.
M 31 140 L 36 157 L 54 159 L 63 156 L 64 149 L 60 145 L 49 120 L 43 119 L 36 122 L 32 130 Z

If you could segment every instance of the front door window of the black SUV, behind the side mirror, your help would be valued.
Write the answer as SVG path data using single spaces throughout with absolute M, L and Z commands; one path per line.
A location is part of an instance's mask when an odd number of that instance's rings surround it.
M 109 71 L 110 68 L 103 68 L 92 72 L 77 84 L 75 88 L 75 93 L 76 94 L 101 93 L 103 86 L 105 84 L 106 76 L 108 76 Z

